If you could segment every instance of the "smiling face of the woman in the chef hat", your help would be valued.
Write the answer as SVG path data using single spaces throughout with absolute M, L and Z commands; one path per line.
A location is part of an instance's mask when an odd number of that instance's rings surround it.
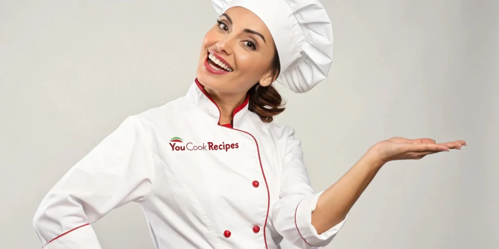
M 275 46 L 265 23 L 250 10 L 232 7 L 219 17 L 203 40 L 197 78 L 223 93 L 248 91 L 272 83 Z

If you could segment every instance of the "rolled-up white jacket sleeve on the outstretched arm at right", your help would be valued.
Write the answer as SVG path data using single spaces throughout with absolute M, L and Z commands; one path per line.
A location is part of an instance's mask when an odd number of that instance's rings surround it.
M 303 163 L 300 141 L 294 138 L 294 130 L 289 128 L 280 183 L 280 199 L 274 206 L 272 223 L 284 239 L 300 249 L 326 246 L 348 218 L 347 214 L 339 224 L 318 234 L 311 220 L 312 212 L 322 192 L 313 192 Z

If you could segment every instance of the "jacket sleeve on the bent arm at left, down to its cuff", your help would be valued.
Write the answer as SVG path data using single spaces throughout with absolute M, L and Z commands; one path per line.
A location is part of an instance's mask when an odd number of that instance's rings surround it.
M 131 116 L 72 166 L 43 198 L 33 226 L 44 249 L 101 249 L 90 224 L 152 189 L 151 142 Z

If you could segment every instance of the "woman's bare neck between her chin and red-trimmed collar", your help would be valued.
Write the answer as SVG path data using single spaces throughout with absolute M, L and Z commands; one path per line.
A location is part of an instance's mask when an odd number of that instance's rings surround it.
M 205 90 L 220 109 L 220 124 L 231 124 L 234 110 L 246 100 L 246 92 L 221 93 L 209 88 Z

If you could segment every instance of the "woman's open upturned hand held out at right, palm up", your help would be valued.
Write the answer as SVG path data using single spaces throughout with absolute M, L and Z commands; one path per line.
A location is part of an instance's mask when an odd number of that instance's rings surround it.
M 461 149 L 463 145 L 466 146 L 463 140 L 436 143 L 430 138 L 392 137 L 376 143 L 370 150 L 382 163 L 386 163 L 393 160 L 421 159 L 429 154 Z

